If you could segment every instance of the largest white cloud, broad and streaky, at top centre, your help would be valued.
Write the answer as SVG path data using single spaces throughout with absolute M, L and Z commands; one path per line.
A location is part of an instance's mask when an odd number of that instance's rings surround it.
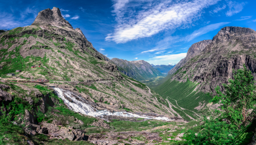
M 108 34 L 105 40 L 126 43 L 152 36 L 164 29 L 188 27 L 201 16 L 204 8 L 218 1 L 220 0 L 182 0 L 176 3 L 171 0 L 160 0 L 154 1 L 150 8 L 136 11 L 134 7 L 128 5 L 129 0 L 115 0 L 112 12 L 115 13 L 118 24 L 114 32 Z

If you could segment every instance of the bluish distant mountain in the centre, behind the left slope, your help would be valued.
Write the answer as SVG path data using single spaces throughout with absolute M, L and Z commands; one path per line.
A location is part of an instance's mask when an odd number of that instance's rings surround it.
M 162 76 L 162 73 L 154 69 L 144 60 L 127 61 L 119 58 L 112 58 L 111 61 L 117 65 L 118 70 L 138 81 Z

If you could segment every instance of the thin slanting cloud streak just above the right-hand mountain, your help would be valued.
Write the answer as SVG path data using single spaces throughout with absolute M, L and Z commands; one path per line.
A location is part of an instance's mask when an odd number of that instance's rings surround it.
M 185 39 L 189 42 L 189 41 L 193 40 L 194 38 L 196 38 L 198 36 L 201 36 L 203 34 L 206 34 L 206 33 L 210 32 L 210 31 L 218 29 L 221 26 L 229 24 L 229 23 L 230 22 L 221 22 L 221 23 L 216 23 L 216 24 L 210 24 L 208 26 L 205 26 L 203 28 L 200 28 L 198 30 L 193 31 L 193 33 L 188 35 L 188 36 L 186 36 Z

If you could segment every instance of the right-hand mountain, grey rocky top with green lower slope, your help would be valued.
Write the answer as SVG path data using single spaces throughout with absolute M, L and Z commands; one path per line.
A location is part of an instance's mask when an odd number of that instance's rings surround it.
M 212 98 L 209 93 L 214 93 L 217 86 L 223 88 L 222 84 L 233 78 L 233 70 L 245 64 L 256 76 L 255 40 L 253 29 L 221 29 L 208 45 L 204 44 L 207 46 L 200 53 L 184 58 L 182 66 L 164 78 L 155 91 L 162 97 L 168 96 L 171 103 L 188 109 L 188 115 L 195 116 L 193 112 L 204 108 Z

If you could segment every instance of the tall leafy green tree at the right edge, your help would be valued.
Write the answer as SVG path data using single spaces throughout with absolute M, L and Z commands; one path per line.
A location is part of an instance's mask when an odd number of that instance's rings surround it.
M 256 82 L 253 79 L 252 72 L 247 70 L 245 65 L 243 69 L 233 71 L 234 80 L 229 79 L 229 84 L 223 84 L 224 93 L 220 87 L 216 87 L 217 96 L 212 102 L 220 102 L 223 117 L 238 127 L 247 126 L 253 116 L 252 110 L 255 108 L 255 90 Z

